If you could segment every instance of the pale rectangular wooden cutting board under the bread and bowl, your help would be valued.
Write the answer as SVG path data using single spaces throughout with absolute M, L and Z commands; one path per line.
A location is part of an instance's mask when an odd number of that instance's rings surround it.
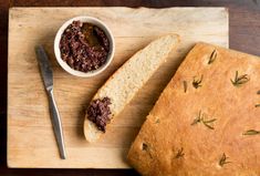
M 189 49 L 197 41 L 228 46 L 228 11 L 225 8 L 12 8 L 9 15 L 9 167 L 128 168 L 125 158 L 131 143 Z M 55 32 L 75 15 L 103 20 L 115 37 L 113 63 L 93 79 L 67 74 L 54 58 Z M 83 135 L 83 120 L 92 96 L 131 55 L 166 33 L 180 35 L 177 51 L 115 118 L 111 131 L 96 144 L 89 144 Z M 54 70 L 54 96 L 67 151 L 65 161 L 59 156 L 34 53 L 34 46 L 40 43 L 45 46 Z

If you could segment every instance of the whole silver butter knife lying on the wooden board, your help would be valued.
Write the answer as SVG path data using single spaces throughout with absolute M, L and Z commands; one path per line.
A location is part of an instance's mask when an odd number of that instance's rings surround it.
M 40 66 L 43 84 L 45 86 L 48 96 L 49 96 L 49 107 L 52 118 L 52 126 L 54 130 L 58 147 L 60 151 L 60 156 L 62 159 L 66 158 L 62 125 L 61 125 L 61 117 L 56 107 L 56 103 L 53 96 L 53 74 L 51 64 L 49 62 L 46 52 L 44 51 L 42 45 L 35 46 L 38 63 Z

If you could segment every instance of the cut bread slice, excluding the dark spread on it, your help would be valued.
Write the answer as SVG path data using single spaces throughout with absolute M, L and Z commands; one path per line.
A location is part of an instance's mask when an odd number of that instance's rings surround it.
M 168 34 L 149 43 L 124 63 L 97 91 L 93 101 L 110 97 L 111 118 L 118 115 L 138 90 L 148 81 L 156 70 L 166 61 L 167 55 L 179 42 L 176 34 Z M 84 134 L 90 143 L 100 138 L 104 132 L 87 118 L 84 121 Z

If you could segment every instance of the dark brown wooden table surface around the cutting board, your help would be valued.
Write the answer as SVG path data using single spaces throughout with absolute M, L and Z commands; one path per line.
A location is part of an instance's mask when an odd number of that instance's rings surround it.
M 229 45 L 260 55 L 260 0 L 0 0 L 0 176 L 135 176 L 133 169 L 9 169 L 7 167 L 7 60 L 10 7 L 227 7 Z

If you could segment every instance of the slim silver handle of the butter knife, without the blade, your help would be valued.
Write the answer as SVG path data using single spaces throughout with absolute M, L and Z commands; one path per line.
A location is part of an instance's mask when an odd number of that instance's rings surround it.
M 62 132 L 62 125 L 61 125 L 61 117 L 56 107 L 56 103 L 53 95 L 53 89 L 48 90 L 49 95 L 49 103 L 50 103 L 50 112 L 52 116 L 52 126 L 54 130 L 54 134 L 56 137 L 56 143 L 60 151 L 60 156 L 62 159 L 66 158 L 66 152 L 65 152 L 65 145 L 63 139 L 63 132 Z

